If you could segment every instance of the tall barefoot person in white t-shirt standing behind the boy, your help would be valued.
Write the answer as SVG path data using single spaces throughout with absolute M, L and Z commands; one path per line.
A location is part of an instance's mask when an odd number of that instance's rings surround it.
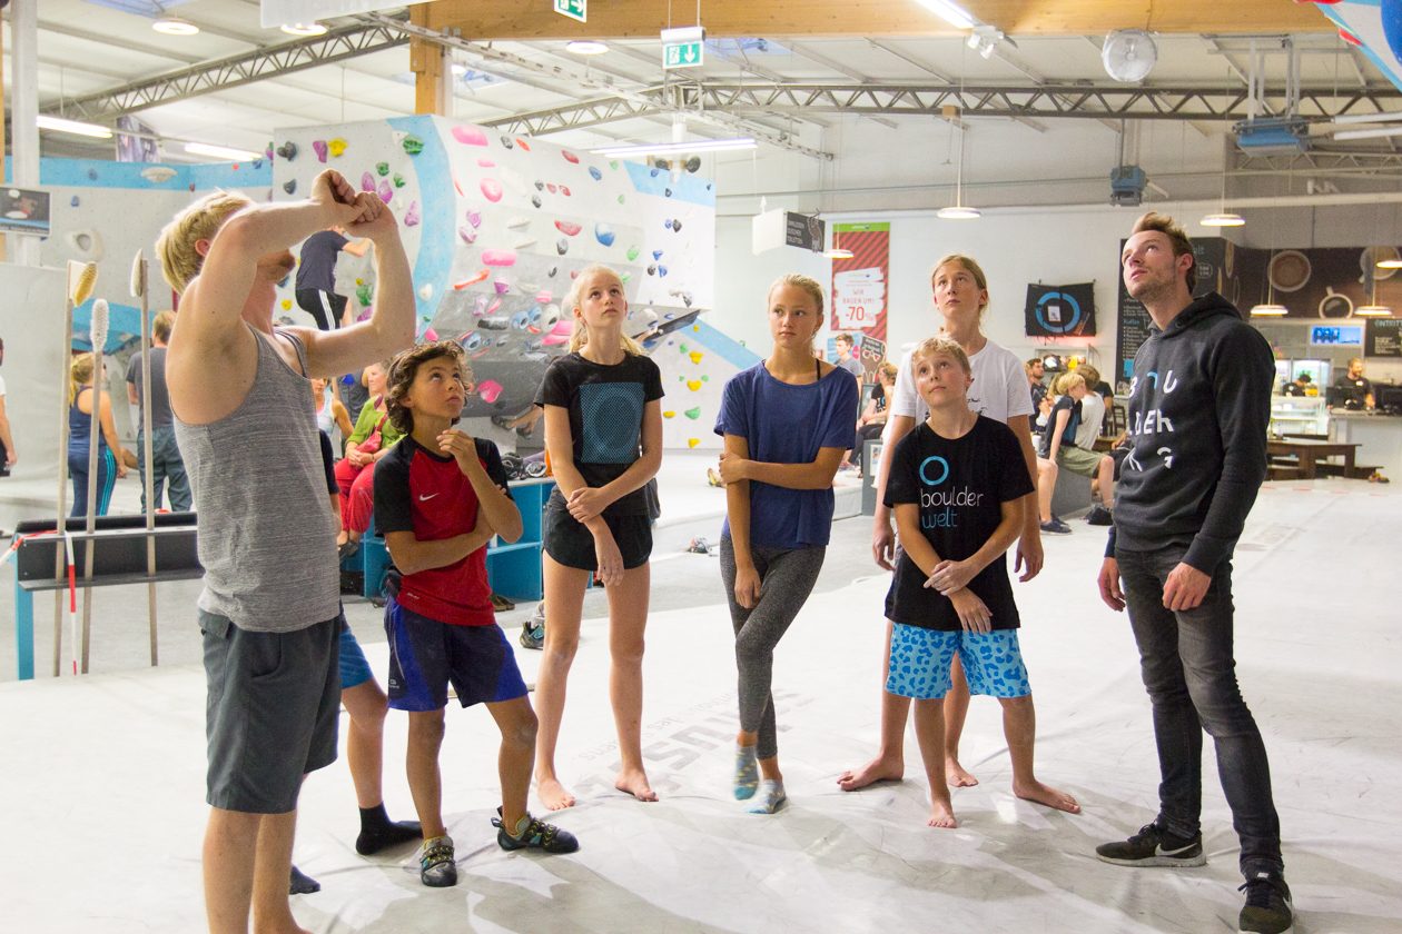
M 970 256 L 952 253 L 935 263 L 930 276 L 935 308 L 944 318 L 942 333 L 958 343 L 969 356 L 973 370 L 973 384 L 969 386 L 969 407 L 983 416 L 1002 421 L 1018 438 L 1018 447 L 1028 463 L 1028 475 L 1036 483 L 1036 454 L 1032 449 L 1032 398 L 1028 393 L 1028 378 L 1022 361 L 1012 351 L 988 340 L 981 330 L 984 309 L 988 307 L 988 277 Z M 918 398 L 910 368 L 910 354 L 901 360 L 896 377 L 894 398 L 886 420 L 882 458 L 876 473 L 876 517 L 872 531 L 872 556 L 876 564 L 892 570 L 896 535 L 892 529 L 890 508 L 883 504 L 886 479 L 890 475 L 890 454 L 896 442 L 910 433 L 916 424 L 928 416 L 928 407 Z M 1029 581 L 1042 571 L 1042 532 L 1037 525 L 1036 493 L 1022 501 L 1023 527 L 1016 546 L 1014 571 L 1019 580 Z M 887 654 L 892 625 L 886 622 Z M 952 667 L 953 688 L 945 696 L 945 773 L 951 787 L 977 784 L 959 763 L 959 738 L 963 732 L 965 716 L 969 711 L 969 683 L 958 655 Z M 886 672 L 882 672 L 882 685 Z M 1008 728 L 1014 758 L 1012 791 L 1019 798 L 1036 801 L 1060 811 L 1080 811 L 1075 798 L 1037 781 L 1032 773 L 1032 742 L 1035 738 L 1035 714 L 1030 696 L 1026 710 L 1014 716 L 1018 724 Z M 910 699 L 882 690 L 880 751 L 876 758 L 844 772 L 837 784 L 844 791 L 864 788 L 873 781 L 900 780 L 904 776 L 906 721 L 910 716 Z

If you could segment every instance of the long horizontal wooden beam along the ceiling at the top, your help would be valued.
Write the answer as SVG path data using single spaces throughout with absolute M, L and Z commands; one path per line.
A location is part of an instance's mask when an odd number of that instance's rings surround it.
M 1274 34 L 1333 32 L 1312 4 L 1281 0 L 966 0 L 965 8 L 1008 35 L 1103 35 L 1112 29 L 1154 32 Z M 435 0 L 414 7 L 432 29 L 460 29 L 463 38 L 568 41 L 656 38 L 667 25 L 695 25 L 695 8 L 667 0 L 593 0 L 589 22 L 575 22 L 544 1 Z M 707 36 L 908 36 L 958 31 L 916 0 L 707 0 Z

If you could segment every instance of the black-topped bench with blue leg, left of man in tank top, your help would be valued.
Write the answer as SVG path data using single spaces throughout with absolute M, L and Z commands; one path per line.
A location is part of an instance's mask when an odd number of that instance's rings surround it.
M 150 584 L 205 576 L 205 569 L 199 564 L 193 513 L 161 513 L 156 517 L 156 528 L 150 532 L 146 529 L 144 515 L 104 515 L 97 520 L 91 535 L 84 531 L 86 528 L 87 524 L 81 518 L 66 522 L 69 538 L 73 539 L 73 562 L 80 588 Z M 146 570 L 147 535 L 156 542 L 154 574 Z M 15 538 L 20 541 L 14 563 L 15 667 L 18 678 L 28 681 L 34 678 L 34 594 L 64 590 L 69 581 L 64 573 L 55 573 L 57 549 L 63 548 L 63 538 L 56 534 L 55 522 L 20 522 Z M 83 577 L 88 548 L 93 549 L 93 576 Z M 55 675 L 59 674 L 62 636 L 60 619 L 56 620 L 53 633 Z M 156 664 L 154 619 L 151 664 Z

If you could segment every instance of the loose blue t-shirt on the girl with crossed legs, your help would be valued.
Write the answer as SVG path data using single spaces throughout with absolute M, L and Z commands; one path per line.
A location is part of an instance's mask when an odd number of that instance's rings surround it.
M 715 433 L 744 438 L 750 459 L 812 463 L 819 448 L 857 442 L 857 381 L 831 370 L 817 382 L 792 385 L 770 375 L 764 363 L 725 384 Z M 750 480 L 750 545 L 822 548 L 833 531 L 833 490 L 791 490 Z M 723 532 L 730 534 L 726 520 Z

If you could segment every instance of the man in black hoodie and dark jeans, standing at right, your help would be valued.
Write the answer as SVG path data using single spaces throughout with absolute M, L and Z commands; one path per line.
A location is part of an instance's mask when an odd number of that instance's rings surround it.
M 1266 478 L 1274 361 L 1217 293 L 1193 298 L 1193 248 L 1148 213 L 1120 255 L 1124 287 L 1154 326 L 1134 357 L 1129 437 L 1101 599 L 1129 608 L 1154 709 L 1159 811 L 1096 847 L 1117 865 L 1203 865 L 1203 730 L 1241 839 L 1242 931 L 1290 930 L 1290 889 L 1266 746 L 1237 686 L 1231 555 Z

